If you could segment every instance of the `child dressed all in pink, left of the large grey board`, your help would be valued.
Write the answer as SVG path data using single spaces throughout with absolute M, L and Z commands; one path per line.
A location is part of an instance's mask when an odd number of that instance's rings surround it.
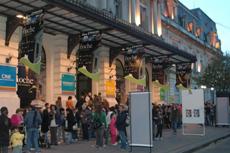
M 116 114 L 112 113 L 111 114 L 111 122 L 110 122 L 110 135 L 111 135 L 111 144 L 112 145 L 117 145 L 117 128 L 116 128 Z

